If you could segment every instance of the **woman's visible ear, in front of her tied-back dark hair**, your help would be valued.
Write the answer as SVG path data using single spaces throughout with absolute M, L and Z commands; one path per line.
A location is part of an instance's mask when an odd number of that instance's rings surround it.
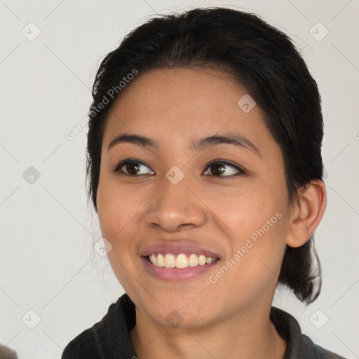
M 312 179 L 307 187 L 299 190 L 298 197 L 298 201 L 292 204 L 285 238 L 285 243 L 294 248 L 309 241 L 323 217 L 327 205 L 325 184 L 320 179 Z

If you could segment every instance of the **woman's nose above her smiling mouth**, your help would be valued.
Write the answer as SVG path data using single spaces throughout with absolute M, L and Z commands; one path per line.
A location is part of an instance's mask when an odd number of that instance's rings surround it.
M 161 190 L 145 212 L 144 220 L 147 226 L 161 227 L 166 232 L 177 232 L 183 228 L 205 224 L 205 204 L 201 201 L 201 194 L 186 176 L 177 184 L 163 176 L 160 185 Z

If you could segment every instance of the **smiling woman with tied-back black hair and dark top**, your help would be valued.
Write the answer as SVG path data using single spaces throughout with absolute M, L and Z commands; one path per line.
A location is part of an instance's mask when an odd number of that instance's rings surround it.
M 271 306 L 278 284 L 318 297 L 326 205 L 320 95 L 285 34 L 227 8 L 154 18 L 102 61 L 89 116 L 126 294 L 63 359 L 342 358 Z

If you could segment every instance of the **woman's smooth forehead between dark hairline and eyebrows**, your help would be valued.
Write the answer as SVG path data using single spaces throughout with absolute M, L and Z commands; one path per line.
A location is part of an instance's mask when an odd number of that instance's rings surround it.
M 243 111 L 240 106 L 248 96 L 241 83 L 212 69 L 139 73 L 112 104 L 103 142 L 108 144 L 120 132 L 151 134 L 160 143 L 231 131 L 252 139 L 271 137 L 261 109 Z

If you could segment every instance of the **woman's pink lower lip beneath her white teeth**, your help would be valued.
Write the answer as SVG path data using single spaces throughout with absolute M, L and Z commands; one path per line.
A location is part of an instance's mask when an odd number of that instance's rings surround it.
M 157 278 L 168 280 L 170 282 L 180 282 L 183 280 L 191 280 L 192 278 L 201 276 L 203 273 L 213 269 L 213 267 L 218 264 L 219 259 L 210 264 L 205 264 L 204 266 L 187 266 L 187 268 L 165 268 L 164 266 L 154 266 L 149 262 L 147 257 L 142 257 L 142 261 L 150 273 Z

